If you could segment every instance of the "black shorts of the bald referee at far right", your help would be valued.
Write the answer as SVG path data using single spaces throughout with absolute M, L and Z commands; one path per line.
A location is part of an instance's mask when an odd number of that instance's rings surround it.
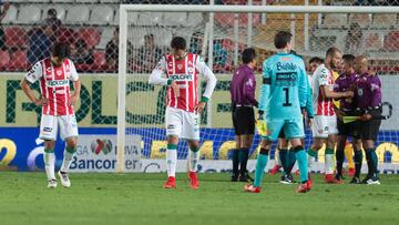
M 369 112 L 371 116 L 379 116 L 382 114 L 382 109 L 375 109 Z M 357 132 L 361 140 L 376 141 L 381 125 L 381 120 L 359 121 L 357 123 Z

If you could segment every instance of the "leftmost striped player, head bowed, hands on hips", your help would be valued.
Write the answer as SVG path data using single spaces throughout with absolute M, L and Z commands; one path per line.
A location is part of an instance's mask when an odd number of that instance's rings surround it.
M 73 62 L 68 59 L 68 44 L 54 43 L 51 57 L 37 62 L 21 81 L 23 92 L 35 105 L 42 108 L 39 137 L 44 140 L 48 187 L 53 188 L 57 187 L 54 145 L 58 130 L 60 130 L 61 139 L 66 141 L 63 162 L 58 172 L 64 187 L 71 186 L 68 171 L 76 152 L 78 142 L 78 124 L 73 104 L 79 100 L 81 82 Z M 30 89 L 30 84 L 37 81 L 40 82 L 40 99 Z M 70 90 L 71 81 L 74 88 L 73 93 Z

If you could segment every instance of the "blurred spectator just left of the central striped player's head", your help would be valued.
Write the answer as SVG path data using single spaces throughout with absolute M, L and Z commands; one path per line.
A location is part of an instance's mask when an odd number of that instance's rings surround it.
M 162 57 L 162 50 L 155 44 L 152 33 L 144 37 L 144 45 L 140 48 L 137 65 L 141 72 L 151 72 Z

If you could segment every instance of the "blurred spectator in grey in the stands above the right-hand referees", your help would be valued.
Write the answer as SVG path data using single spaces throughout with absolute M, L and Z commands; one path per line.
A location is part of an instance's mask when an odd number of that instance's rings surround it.
M 362 31 L 358 23 L 350 23 L 348 34 L 345 38 L 345 53 L 360 55 L 365 53 Z

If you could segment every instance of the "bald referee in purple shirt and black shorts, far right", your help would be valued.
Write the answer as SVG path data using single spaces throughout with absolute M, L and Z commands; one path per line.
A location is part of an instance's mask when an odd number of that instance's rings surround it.
M 378 177 L 378 158 L 376 154 L 375 141 L 381 125 L 380 120 L 371 120 L 372 116 L 382 114 L 382 93 L 381 81 L 378 75 L 371 75 L 368 72 L 368 60 L 360 55 L 355 59 L 355 70 L 359 74 L 356 79 L 356 108 L 361 113 L 361 122 L 358 126 L 358 133 L 366 151 L 368 174 L 361 184 L 380 184 Z M 361 162 L 361 161 L 360 161 Z M 361 166 L 361 164 L 360 164 Z M 359 175 L 359 174 L 357 174 Z M 358 183 L 359 177 L 354 176 L 352 183 Z

